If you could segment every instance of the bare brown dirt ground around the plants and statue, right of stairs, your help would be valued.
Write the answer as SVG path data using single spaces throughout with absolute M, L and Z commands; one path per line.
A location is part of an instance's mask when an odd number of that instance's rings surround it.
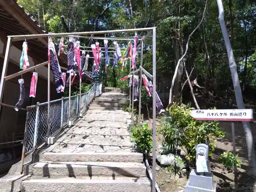
M 145 120 L 144 123 L 148 123 L 149 127 L 152 126 L 152 120 Z M 160 124 L 159 119 L 157 125 Z M 234 173 L 228 172 L 223 168 L 221 163 L 218 162 L 218 155 L 223 151 L 232 151 L 232 133 L 231 123 L 220 122 L 220 127 L 223 131 L 227 132 L 225 138 L 218 139 L 215 143 L 217 148 L 215 149 L 211 160 L 211 172 L 214 174 L 214 181 L 217 182 L 217 192 L 231 192 L 234 191 Z M 254 138 L 256 137 L 256 125 L 251 123 L 251 128 Z M 238 167 L 238 188 L 241 192 L 256 192 L 256 178 L 252 178 L 246 174 L 248 170 L 248 158 L 246 152 L 246 140 L 244 134 L 244 128 L 242 123 L 235 123 L 236 132 L 236 151 L 239 159 L 242 161 L 241 168 Z M 162 136 L 157 135 L 157 146 L 161 144 Z M 254 150 L 254 148 L 253 148 Z M 157 150 L 158 153 L 158 150 Z M 167 168 L 157 166 L 157 183 L 161 192 L 180 192 L 184 190 L 187 184 L 188 177 L 182 178 L 170 176 Z

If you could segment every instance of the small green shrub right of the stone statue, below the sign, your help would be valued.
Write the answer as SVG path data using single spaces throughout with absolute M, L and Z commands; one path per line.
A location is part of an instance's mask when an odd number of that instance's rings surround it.
M 234 165 L 241 167 L 241 161 L 238 159 L 238 154 L 234 155 L 230 151 L 224 151 L 223 154 L 219 155 L 219 160 L 226 169 L 231 169 Z

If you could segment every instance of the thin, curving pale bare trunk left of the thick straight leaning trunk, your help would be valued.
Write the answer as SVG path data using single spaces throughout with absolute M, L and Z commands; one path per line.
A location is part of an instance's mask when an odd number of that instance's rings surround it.
M 184 59 L 184 57 L 185 57 L 185 56 L 187 55 L 187 53 L 188 53 L 188 45 L 189 45 L 191 36 L 192 36 L 193 33 L 195 33 L 195 31 L 200 27 L 200 25 L 202 24 L 202 22 L 203 22 L 203 20 L 204 20 L 204 17 L 205 17 L 205 14 L 206 14 L 207 4 L 208 4 L 208 0 L 206 0 L 206 3 L 205 3 L 205 7 L 204 7 L 204 12 L 203 12 L 202 19 L 201 19 L 200 23 L 196 26 L 196 28 L 192 31 L 192 33 L 189 35 L 188 41 L 187 41 L 187 45 L 186 45 L 185 53 L 184 53 L 184 54 L 182 55 L 182 57 L 178 60 L 178 63 L 177 63 L 177 65 L 176 65 L 175 72 L 174 72 L 173 79 L 172 79 L 172 85 L 171 85 L 171 88 L 170 88 L 169 104 L 172 103 L 172 90 L 173 90 L 174 82 L 175 82 L 175 79 L 176 79 L 176 76 L 177 76 L 178 68 L 179 68 L 179 66 L 180 66 L 181 61 Z

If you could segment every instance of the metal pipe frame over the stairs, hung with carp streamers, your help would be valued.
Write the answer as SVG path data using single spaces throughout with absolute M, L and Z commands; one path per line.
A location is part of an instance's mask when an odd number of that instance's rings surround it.
M 8 68 L 8 61 L 9 61 L 9 54 L 10 54 L 10 48 L 11 48 L 11 42 L 14 41 L 22 41 L 25 39 L 36 39 L 36 38 L 42 38 L 42 37 L 69 37 L 70 35 L 93 35 L 93 34 L 114 34 L 114 33 L 136 33 L 139 31 L 149 31 L 147 33 L 146 36 L 144 36 L 143 38 L 139 39 L 139 45 L 138 45 L 138 49 L 140 48 L 140 46 L 142 46 L 142 42 L 145 41 L 147 38 L 151 37 L 152 34 L 152 40 L 153 40 L 153 75 L 150 75 L 149 73 L 147 73 L 147 71 L 142 68 L 142 66 L 140 66 L 139 70 L 141 70 L 142 72 L 144 72 L 150 79 L 153 79 L 153 169 L 152 169 L 152 174 L 153 174 L 153 181 L 152 181 L 152 192 L 155 192 L 155 176 L 156 176 L 156 172 L 155 172 L 155 166 L 156 166 L 156 27 L 148 27 L 148 28 L 139 28 L 139 29 L 124 29 L 124 30 L 108 30 L 108 31 L 86 31 L 86 32 L 75 32 L 75 33 L 50 33 L 50 34 L 31 34 L 31 35 L 9 35 L 8 40 L 7 40 L 7 46 L 6 46 L 6 50 L 5 50 L 5 57 L 4 57 L 4 63 L 3 63 L 3 69 L 2 69 L 2 75 L 1 75 L 1 81 L 0 81 L 0 102 L 3 99 L 3 90 L 4 90 L 4 84 L 5 84 L 5 80 L 14 78 L 15 76 L 19 76 L 21 74 L 24 74 L 28 71 L 31 71 L 35 68 L 41 67 L 43 65 L 45 65 L 44 63 L 39 64 L 39 65 L 35 65 L 31 68 L 29 68 L 29 70 L 27 69 L 27 71 L 22 71 L 22 72 L 18 72 L 15 73 L 13 75 L 9 75 L 6 76 L 7 74 L 7 68 Z M 81 37 L 81 38 L 92 38 L 92 39 L 99 39 L 101 37 Z M 125 38 L 120 38 L 120 40 L 125 40 Z M 102 38 L 102 39 L 106 39 L 106 38 Z M 117 40 L 117 38 L 110 38 L 111 40 Z M 128 39 L 131 40 L 131 39 Z M 89 47 L 90 48 L 90 47 Z M 112 49 L 112 48 L 109 48 Z M 114 49 L 114 48 L 113 48 Z M 121 48 L 122 49 L 122 48 Z M 90 57 L 93 58 L 93 57 Z M 101 59 L 105 59 L 104 57 L 102 57 Z M 113 59 L 113 58 L 109 58 L 109 59 Z M 48 62 L 47 62 L 48 63 Z M 144 69 L 144 70 L 143 70 Z M 134 69 L 132 70 L 132 80 L 133 80 L 133 75 L 134 75 Z M 49 137 L 49 131 L 50 131 L 50 64 L 48 63 L 48 133 L 47 136 Z M 134 81 L 133 81 L 134 84 Z M 141 87 L 140 87 L 141 89 Z M 131 93 L 131 91 L 130 91 Z M 69 78 L 69 120 L 70 120 L 70 94 L 71 94 L 71 76 Z M 134 99 L 134 91 L 132 90 L 132 123 L 133 123 L 133 99 Z M 27 118 L 26 118 L 26 128 L 27 128 Z M 25 157 L 25 152 L 26 152 L 26 128 L 25 128 L 25 136 L 24 136 L 24 140 L 23 140 L 23 151 L 22 151 L 22 167 L 21 169 L 23 169 L 23 161 L 24 161 L 24 157 Z M 22 172 L 22 170 L 21 170 Z

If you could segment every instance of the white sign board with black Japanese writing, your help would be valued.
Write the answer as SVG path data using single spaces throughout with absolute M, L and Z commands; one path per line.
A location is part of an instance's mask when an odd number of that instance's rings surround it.
M 253 121 L 252 109 L 192 110 L 191 117 L 205 121 Z

